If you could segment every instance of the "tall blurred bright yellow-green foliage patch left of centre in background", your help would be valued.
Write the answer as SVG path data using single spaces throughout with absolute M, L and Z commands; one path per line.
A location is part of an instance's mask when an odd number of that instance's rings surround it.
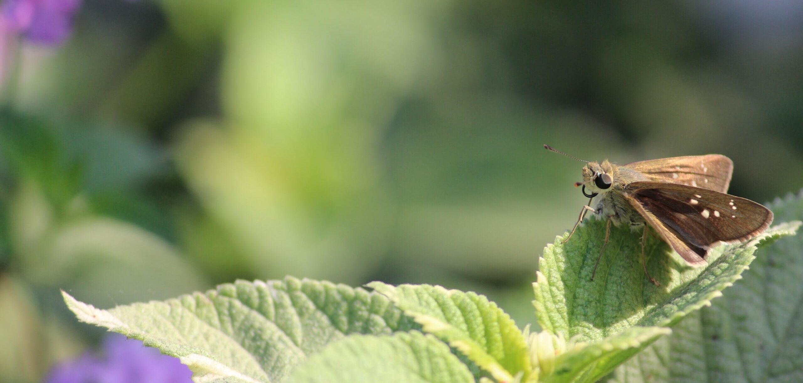
M 362 283 L 386 255 L 393 227 L 377 145 L 425 63 L 413 58 L 439 54 L 426 25 L 443 7 L 220 7 L 187 14 L 232 11 L 222 39 L 224 118 L 190 121 L 177 139 L 179 172 L 202 215 L 216 221 L 207 229 L 218 227 L 217 237 L 231 238 L 247 257 L 241 273 Z M 186 14 L 171 15 L 186 22 L 183 31 L 198 27 Z

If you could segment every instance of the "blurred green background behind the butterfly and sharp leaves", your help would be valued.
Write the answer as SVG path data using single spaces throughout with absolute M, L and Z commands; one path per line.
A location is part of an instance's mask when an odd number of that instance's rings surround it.
M 0 381 L 100 340 L 59 288 L 108 308 L 437 283 L 532 322 L 537 258 L 585 203 L 543 144 L 722 153 L 759 202 L 803 186 L 803 2 L 85 0 L 66 41 L 18 53 Z

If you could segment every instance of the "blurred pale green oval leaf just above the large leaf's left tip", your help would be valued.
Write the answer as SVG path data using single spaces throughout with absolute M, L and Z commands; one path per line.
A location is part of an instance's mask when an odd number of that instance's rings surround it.
M 27 279 L 96 303 L 161 299 L 208 286 L 169 243 L 109 218 L 52 230 L 21 263 Z

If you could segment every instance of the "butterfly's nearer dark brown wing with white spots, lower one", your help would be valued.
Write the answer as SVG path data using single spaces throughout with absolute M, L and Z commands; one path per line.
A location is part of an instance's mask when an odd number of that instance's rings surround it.
M 625 194 L 646 222 L 693 265 L 703 263 L 717 243 L 754 238 L 772 223 L 772 211 L 759 203 L 711 189 L 636 181 L 626 186 Z

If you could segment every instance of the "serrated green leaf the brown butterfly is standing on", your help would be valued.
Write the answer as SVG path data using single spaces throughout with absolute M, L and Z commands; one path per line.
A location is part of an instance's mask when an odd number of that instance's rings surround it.
M 632 326 L 671 326 L 711 304 L 755 258 L 768 238 L 791 234 L 797 224 L 771 228 L 749 242 L 717 247 L 707 267 L 689 267 L 657 238 L 646 244 L 647 268 L 661 283 L 650 283 L 641 264 L 641 233 L 611 227 L 610 242 L 591 280 L 605 237 L 605 222 L 590 220 L 565 244 L 567 234 L 544 249 L 533 284 L 541 328 L 579 340 L 601 340 Z

